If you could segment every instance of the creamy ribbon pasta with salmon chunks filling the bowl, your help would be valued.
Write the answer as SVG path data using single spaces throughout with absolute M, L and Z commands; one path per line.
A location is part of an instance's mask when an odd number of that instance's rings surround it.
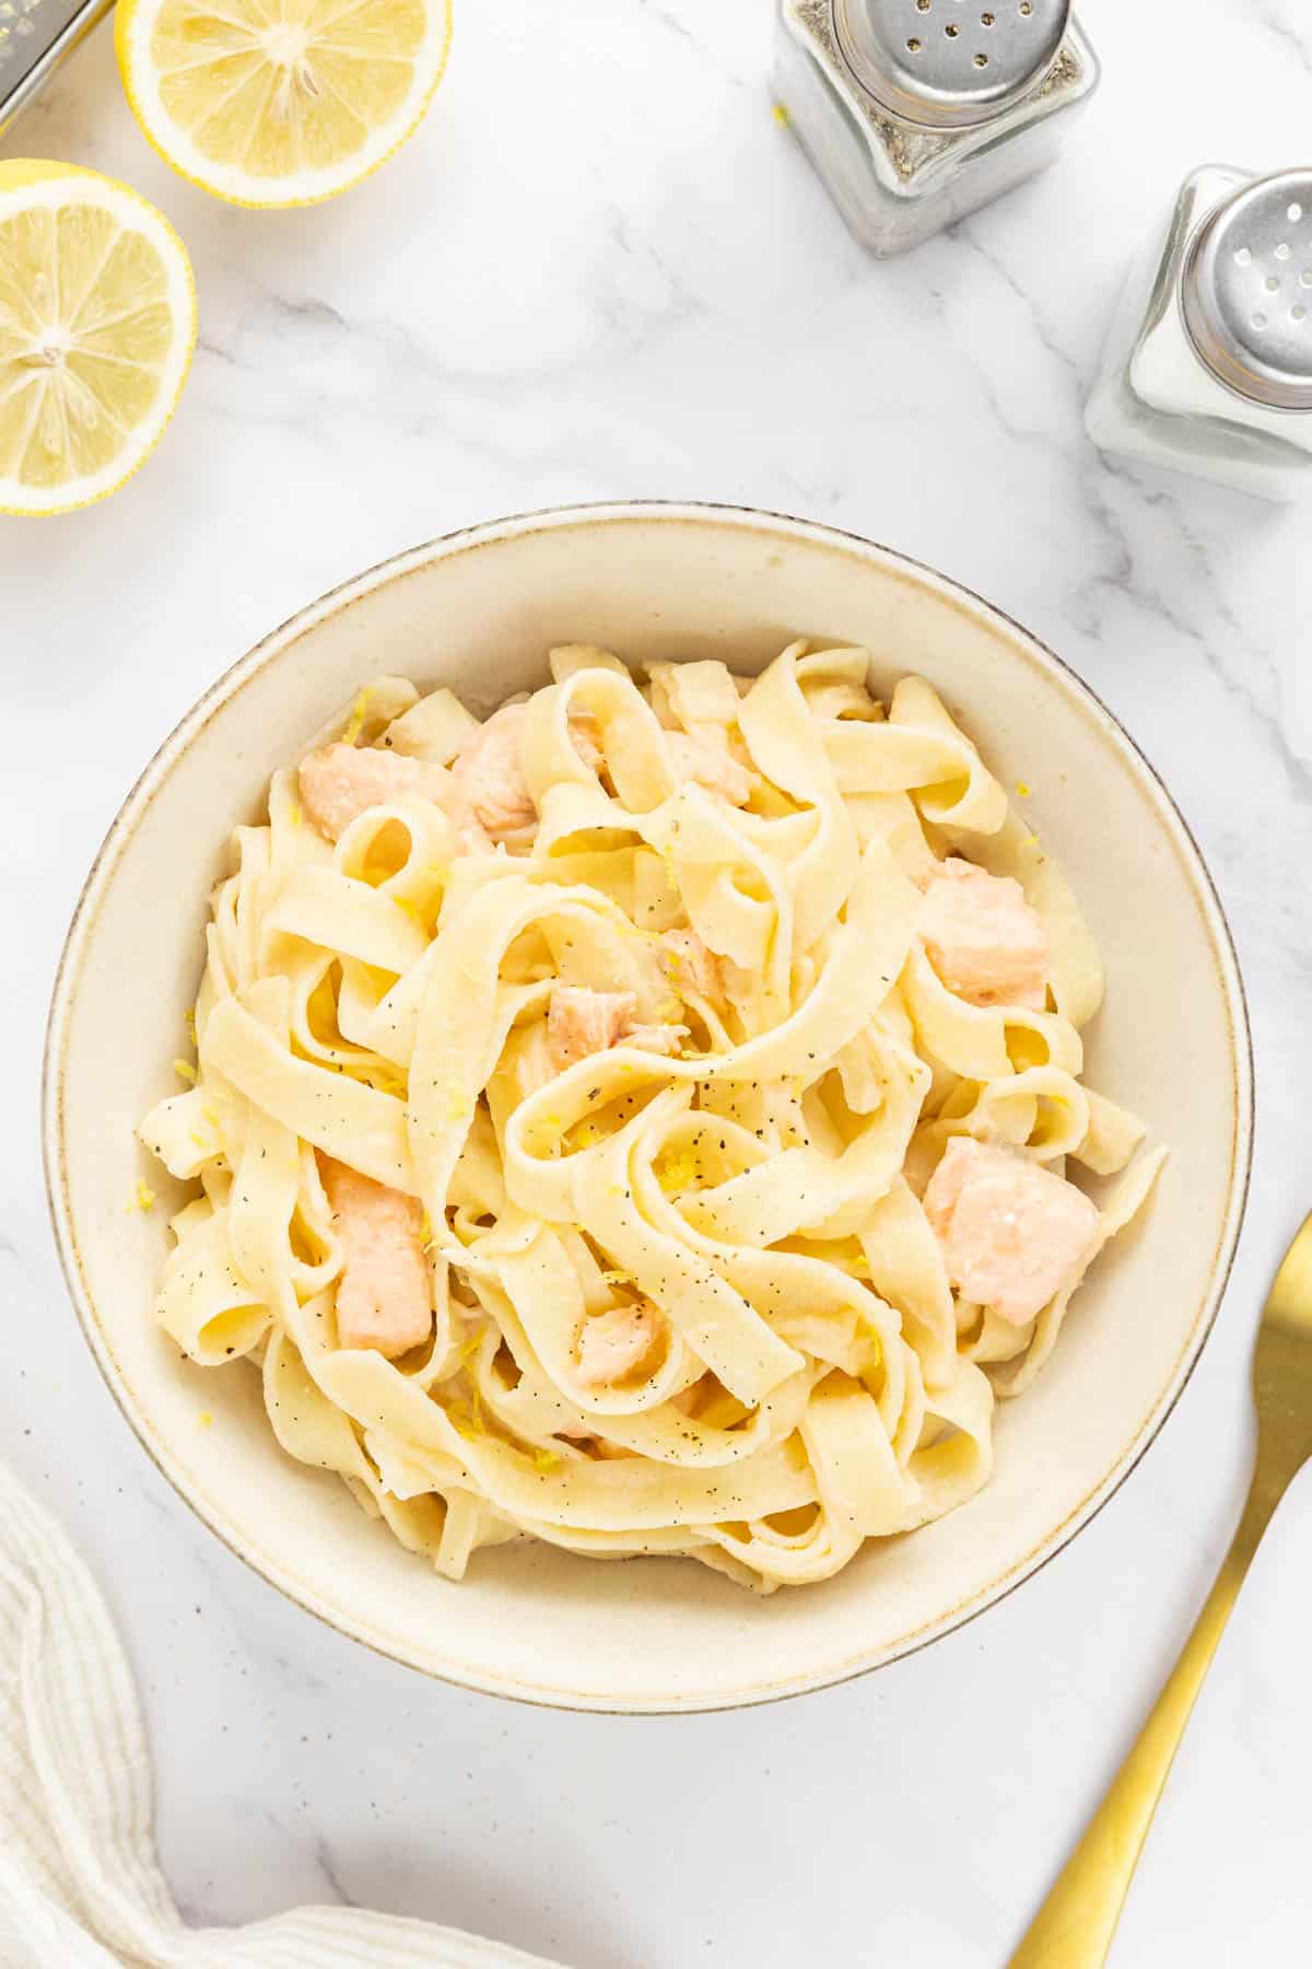
M 938 1518 L 1151 1189 L 1062 874 L 867 671 L 570 646 L 486 723 L 388 677 L 234 835 L 140 1128 L 193 1185 L 157 1315 L 450 1579 L 531 1536 L 769 1591 Z

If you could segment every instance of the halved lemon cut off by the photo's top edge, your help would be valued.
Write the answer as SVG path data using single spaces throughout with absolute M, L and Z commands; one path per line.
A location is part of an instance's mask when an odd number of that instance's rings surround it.
M 423 120 L 450 0 L 118 0 L 114 35 L 175 171 L 232 205 L 317 205 Z

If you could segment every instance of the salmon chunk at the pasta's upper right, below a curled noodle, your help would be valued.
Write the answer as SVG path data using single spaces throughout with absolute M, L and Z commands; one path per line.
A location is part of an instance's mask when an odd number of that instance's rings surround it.
M 1011 876 L 952 857 L 921 904 L 921 939 L 934 971 L 968 1004 L 1048 1002 L 1048 937 Z

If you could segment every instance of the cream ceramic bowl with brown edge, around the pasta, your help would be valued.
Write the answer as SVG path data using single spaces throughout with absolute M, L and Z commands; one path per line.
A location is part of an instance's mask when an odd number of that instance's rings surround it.
M 266 782 L 380 671 L 480 707 L 537 685 L 553 642 L 761 667 L 797 634 L 923 671 L 1013 786 L 1033 786 L 1107 959 L 1090 1079 L 1172 1160 L 1098 1264 L 1052 1363 L 997 1416 L 991 1485 L 838 1577 L 761 1601 L 675 1559 L 480 1552 L 439 1579 L 336 1479 L 285 1459 L 246 1366 L 179 1363 L 151 1317 L 165 1211 L 124 1213 L 138 1116 L 169 1087 L 209 888 Z M 1056 658 L 940 575 L 820 526 L 714 506 L 610 506 L 474 528 L 279 628 L 179 725 L 114 821 L 69 933 L 47 1048 L 55 1229 L 87 1339 L 132 1428 L 266 1579 L 399 1662 L 500 1695 L 671 1711 L 840 1682 L 1019 1585 L 1127 1475 L 1188 1378 L 1243 1213 L 1251 1063 L 1235 957 L 1198 851 L 1125 732 Z M 212 1426 L 201 1428 L 201 1412 Z

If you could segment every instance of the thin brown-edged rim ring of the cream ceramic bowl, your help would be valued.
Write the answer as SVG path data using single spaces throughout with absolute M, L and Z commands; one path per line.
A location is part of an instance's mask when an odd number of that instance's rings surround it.
M 1082 703 L 1086 711 L 1094 711 L 1102 721 L 1105 734 L 1113 744 L 1119 744 L 1127 754 L 1131 766 L 1137 766 L 1141 774 L 1147 776 L 1151 790 L 1157 794 L 1163 819 L 1168 819 L 1180 837 L 1184 849 L 1186 872 L 1192 876 L 1198 900 L 1202 904 L 1204 920 L 1212 931 L 1214 955 L 1218 961 L 1218 977 L 1222 983 L 1225 1012 L 1229 1018 L 1229 1063 L 1233 1079 L 1233 1112 L 1235 1126 L 1231 1136 L 1231 1166 L 1225 1189 L 1225 1211 L 1220 1225 L 1220 1235 L 1216 1242 L 1216 1254 L 1212 1262 L 1212 1272 L 1208 1286 L 1200 1296 L 1190 1333 L 1176 1357 L 1170 1378 L 1163 1384 L 1157 1394 L 1153 1408 L 1147 1418 L 1139 1424 L 1137 1435 L 1121 1449 L 1111 1467 L 1103 1477 L 1088 1491 L 1082 1502 L 1066 1514 L 1066 1518 L 1046 1534 L 1029 1554 L 1011 1559 L 995 1579 L 985 1587 L 970 1593 L 962 1603 L 950 1607 L 946 1613 L 928 1620 L 921 1628 L 909 1630 L 893 1644 L 885 1644 L 873 1656 L 854 1656 L 828 1668 L 814 1672 L 795 1672 L 779 1682 L 771 1682 L 757 1687 L 747 1687 L 744 1691 L 722 1693 L 712 1699 L 690 1697 L 663 1697 L 659 1701 L 647 1697 L 631 1697 L 622 1701 L 598 1701 L 586 1693 L 567 1691 L 559 1685 L 549 1683 L 529 1683 L 515 1682 L 502 1674 L 470 1674 L 456 1672 L 448 1666 L 439 1666 L 431 1660 L 419 1660 L 415 1654 L 405 1652 L 403 1644 L 388 1644 L 384 1634 L 372 1632 L 364 1622 L 354 1622 L 350 1617 L 342 1615 L 340 1609 L 330 1607 L 319 1599 L 319 1595 L 305 1583 L 297 1581 L 291 1573 L 269 1561 L 260 1554 L 258 1546 L 250 1538 L 238 1532 L 236 1526 L 220 1522 L 210 1500 L 193 1485 L 181 1469 L 173 1467 L 171 1451 L 163 1435 L 159 1435 L 148 1418 L 138 1410 L 132 1390 L 126 1378 L 118 1370 L 118 1363 L 110 1351 L 108 1339 L 100 1329 L 96 1315 L 94 1298 L 87 1284 L 83 1270 L 79 1237 L 73 1217 L 73 1207 L 69 1199 L 67 1181 L 67 1162 L 65 1162 L 65 1071 L 67 1071 L 67 1042 L 71 1030 L 73 1002 L 77 996 L 77 986 L 83 971 L 83 961 L 87 949 L 96 929 L 98 906 L 110 886 L 112 876 L 118 870 L 120 860 L 128 853 L 136 823 L 149 809 L 157 786 L 167 778 L 169 770 L 177 760 L 185 756 L 193 740 L 205 730 L 205 727 L 234 699 L 244 685 L 262 673 L 266 667 L 275 664 L 285 650 L 295 646 L 303 636 L 317 628 L 323 620 L 344 614 L 354 603 L 376 593 L 393 581 L 405 579 L 407 575 L 419 571 L 421 567 L 433 565 L 437 561 L 454 557 L 458 553 L 478 551 L 482 547 L 500 545 L 507 540 L 521 538 L 535 532 L 565 532 L 568 528 L 594 528 L 604 524 L 633 524 L 633 522 L 710 522 L 712 526 L 730 526 L 742 532 L 761 530 L 767 536 L 801 540 L 808 545 L 828 547 L 830 551 L 844 553 L 848 557 L 883 563 L 895 573 L 901 573 L 913 585 L 921 589 L 936 591 L 940 599 L 954 603 L 974 620 L 991 618 L 1005 624 L 1019 642 L 1017 654 L 1025 650 L 1041 671 L 1046 671 L 1050 681 L 1066 687 L 1076 703 Z M 877 1668 L 887 1668 L 893 1662 L 905 1660 L 911 1654 L 928 1648 L 932 1642 L 942 1640 L 946 1634 L 980 1619 L 989 1607 L 1015 1593 L 1027 1579 L 1033 1579 L 1037 1571 L 1048 1565 L 1060 1552 L 1064 1552 L 1070 1542 L 1098 1516 L 1098 1512 L 1109 1502 L 1109 1498 L 1121 1489 L 1129 1475 L 1139 1467 L 1147 1449 L 1157 1439 L 1166 1418 L 1174 1410 L 1180 1394 L 1184 1392 L 1202 1351 L 1216 1325 L 1225 1288 L 1229 1284 L 1235 1250 L 1239 1244 L 1239 1235 L 1243 1229 L 1249 1183 L 1253 1172 L 1253 1124 L 1255 1124 L 1255 1073 L 1253 1073 L 1253 1034 L 1247 1008 L 1247 992 L 1243 984 L 1243 973 L 1239 969 L 1239 959 L 1235 951 L 1235 939 L 1222 904 L 1220 892 L 1212 870 L 1198 847 L 1192 827 L 1184 819 L 1174 795 L 1166 788 L 1163 776 L 1157 772 L 1143 746 L 1125 730 L 1121 721 L 1113 711 L 1098 697 L 1090 683 L 1070 666 L 1064 658 L 1056 656 L 1033 630 L 1017 622 L 1015 616 L 1007 614 L 995 603 L 978 595 L 966 583 L 944 575 L 940 569 L 926 561 L 903 553 L 897 547 L 887 547 L 873 541 L 862 534 L 848 528 L 836 528 L 826 522 L 803 520 L 795 514 L 775 512 L 771 508 L 759 506 L 740 506 L 732 502 L 716 500 L 598 500 L 568 506 L 547 506 L 517 514 L 506 514 L 498 520 L 484 520 L 472 526 L 452 528 L 447 534 L 439 534 L 415 547 L 403 549 L 384 561 L 374 563 L 358 575 L 336 583 L 327 589 L 321 597 L 299 608 L 295 614 L 287 616 L 277 628 L 269 630 L 252 648 L 244 652 L 234 664 L 230 664 L 220 675 L 201 693 L 201 697 L 191 705 L 189 711 L 177 721 L 173 730 L 155 748 L 151 758 L 146 762 L 128 794 L 124 795 L 114 819 L 110 821 L 100 847 L 90 862 L 87 878 L 81 886 L 69 929 L 65 935 L 59 965 L 55 969 L 55 981 L 51 988 L 51 1002 L 45 1024 L 45 1049 L 41 1061 L 41 1156 L 43 1156 L 43 1175 L 45 1175 L 45 1199 L 51 1217 L 51 1227 L 55 1233 L 55 1246 L 59 1252 L 59 1264 L 63 1270 L 65 1286 L 69 1298 L 73 1300 L 73 1309 L 77 1313 L 83 1337 L 90 1349 L 96 1366 L 118 1404 L 128 1428 L 155 1465 L 155 1469 L 167 1479 L 167 1483 L 177 1491 L 183 1502 L 195 1512 L 195 1516 L 207 1526 L 207 1530 L 218 1538 L 242 1563 L 246 1563 L 262 1581 L 285 1595 L 305 1613 L 323 1620 L 334 1632 L 372 1648 L 376 1654 L 386 1656 L 401 1664 L 403 1668 L 417 1670 L 433 1680 L 450 1683 L 470 1693 L 498 1695 L 507 1701 L 527 1703 L 539 1709 L 563 1709 L 570 1713 L 592 1713 L 592 1715 L 686 1715 L 686 1713 L 718 1713 L 730 1709 L 749 1709 L 771 1701 L 785 1701 L 797 1695 L 806 1695 L 816 1689 L 840 1687 L 846 1682 L 858 1680 L 875 1672 Z

